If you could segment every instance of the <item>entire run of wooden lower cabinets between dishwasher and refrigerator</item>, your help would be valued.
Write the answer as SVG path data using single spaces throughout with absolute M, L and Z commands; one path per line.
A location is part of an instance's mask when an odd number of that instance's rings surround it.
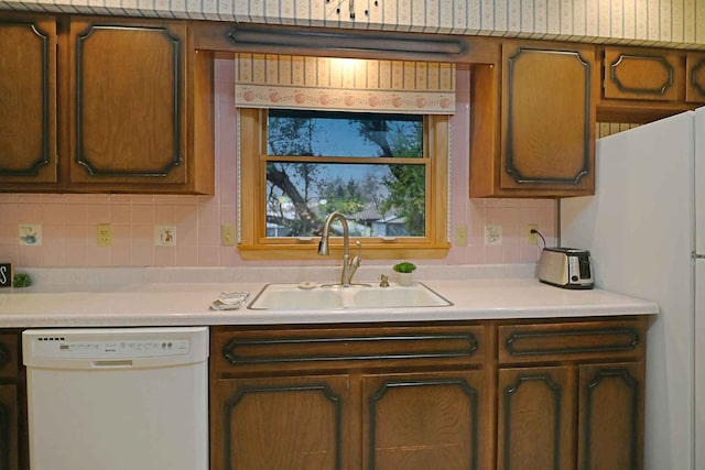
M 212 470 L 639 470 L 646 332 L 646 316 L 214 327 Z

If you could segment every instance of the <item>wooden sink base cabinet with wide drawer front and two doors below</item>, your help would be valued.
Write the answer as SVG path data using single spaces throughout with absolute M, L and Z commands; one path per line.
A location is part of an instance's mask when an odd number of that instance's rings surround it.
M 487 468 L 484 332 L 213 328 L 212 469 Z

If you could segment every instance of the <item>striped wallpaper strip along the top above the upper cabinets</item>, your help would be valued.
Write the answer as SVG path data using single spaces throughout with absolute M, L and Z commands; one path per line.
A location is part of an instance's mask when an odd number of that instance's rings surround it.
M 0 0 L 0 9 L 705 48 L 703 0 Z

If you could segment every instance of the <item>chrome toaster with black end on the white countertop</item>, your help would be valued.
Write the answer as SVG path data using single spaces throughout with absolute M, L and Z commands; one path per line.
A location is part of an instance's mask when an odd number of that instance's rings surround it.
M 539 281 L 564 288 L 593 288 L 590 252 L 575 248 L 544 248 L 539 260 Z

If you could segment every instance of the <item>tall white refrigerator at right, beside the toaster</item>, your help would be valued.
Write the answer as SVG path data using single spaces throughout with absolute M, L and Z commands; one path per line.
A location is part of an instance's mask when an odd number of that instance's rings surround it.
M 596 286 L 654 300 L 644 469 L 705 470 L 705 108 L 597 141 L 595 196 L 562 199 Z

